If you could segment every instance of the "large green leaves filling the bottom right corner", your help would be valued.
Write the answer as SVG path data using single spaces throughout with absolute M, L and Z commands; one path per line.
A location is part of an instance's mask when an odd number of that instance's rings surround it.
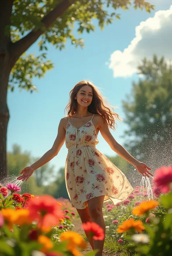
M 160 198 L 162 206 L 167 209 L 167 214 L 159 218 L 152 218 L 151 226 L 144 224 L 149 243 L 138 242 L 133 236 L 126 237 L 130 248 L 137 252 L 136 256 L 170 256 L 172 251 L 172 192 Z

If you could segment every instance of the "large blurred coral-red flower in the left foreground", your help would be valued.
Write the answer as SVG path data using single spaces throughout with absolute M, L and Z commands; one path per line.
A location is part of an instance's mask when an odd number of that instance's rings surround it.
M 30 218 L 38 222 L 38 227 L 49 231 L 64 217 L 60 204 L 50 195 L 35 196 L 30 199 L 28 210 Z

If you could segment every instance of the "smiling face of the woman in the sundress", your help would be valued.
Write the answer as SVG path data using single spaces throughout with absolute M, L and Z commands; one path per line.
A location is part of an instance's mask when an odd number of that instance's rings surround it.
M 85 107 L 89 106 L 93 100 L 93 89 L 91 86 L 83 85 L 77 92 L 75 99 L 77 99 L 79 105 Z

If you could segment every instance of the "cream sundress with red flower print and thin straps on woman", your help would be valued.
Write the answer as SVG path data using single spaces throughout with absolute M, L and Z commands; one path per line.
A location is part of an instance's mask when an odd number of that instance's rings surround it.
M 110 199 L 115 205 L 134 191 L 123 172 L 96 149 L 99 141 L 93 117 L 79 129 L 70 119 L 66 125 L 65 182 L 71 205 L 77 209 L 86 208 L 87 200 L 102 195 L 104 201 Z

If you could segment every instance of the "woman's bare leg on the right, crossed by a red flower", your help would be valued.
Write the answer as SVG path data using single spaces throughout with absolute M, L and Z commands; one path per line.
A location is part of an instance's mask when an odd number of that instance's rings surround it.
M 103 202 L 105 196 L 97 196 L 95 198 L 88 200 L 88 208 L 91 216 L 92 222 L 97 223 L 100 227 L 103 228 L 104 233 L 106 233 L 105 220 L 103 218 Z M 94 249 L 99 249 L 99 252 L 96 253 L 95 256 L 102 256 L 103 246 L 105 239 L 103 240 L 94 240 Z

